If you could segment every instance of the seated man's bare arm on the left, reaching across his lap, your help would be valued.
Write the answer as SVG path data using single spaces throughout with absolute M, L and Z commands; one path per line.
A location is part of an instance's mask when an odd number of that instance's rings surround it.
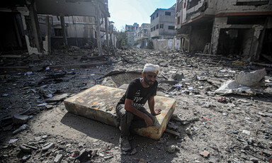
M 149 118 L 145 113 L 142 113 L 142 111 L 139 111 L 135 106 L 132 106 L 133 101 L 130 99 L 125 99 L 125 110 L 130 111 L 130 113 L 134 114 L 135 116 L 138 116 L 145 120 L 145 123 L 147 123 L 147 126 L 152 126 L 153 122 L 152 119 Z

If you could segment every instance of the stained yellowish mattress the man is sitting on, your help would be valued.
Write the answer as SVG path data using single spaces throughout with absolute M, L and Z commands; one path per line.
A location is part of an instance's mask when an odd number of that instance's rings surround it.
M 64 100 L 64 105 L 69 113 L 98 120 L 102 123 L 119 126 L 115 106 L 125 94 L 125 89 L 96 85 L 90 89 Z M 158 140 L 176 108 L 176 99 L 164 96 L 155 96 L 155 108 L 162 109 L 162 113 L 156 116 L 156 122 L 148 128 L 135 130 L 138 135 Z M 145 107 L 148 109 L 148 105 Z

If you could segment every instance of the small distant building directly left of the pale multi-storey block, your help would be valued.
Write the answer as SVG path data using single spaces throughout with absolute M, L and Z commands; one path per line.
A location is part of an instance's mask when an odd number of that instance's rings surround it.
M 142 23 L 142 25 L 135 31 L 135 42 L 137 43 L 137 48 L 147 47 L 148 40 L 150 38 L 150 24 Z

